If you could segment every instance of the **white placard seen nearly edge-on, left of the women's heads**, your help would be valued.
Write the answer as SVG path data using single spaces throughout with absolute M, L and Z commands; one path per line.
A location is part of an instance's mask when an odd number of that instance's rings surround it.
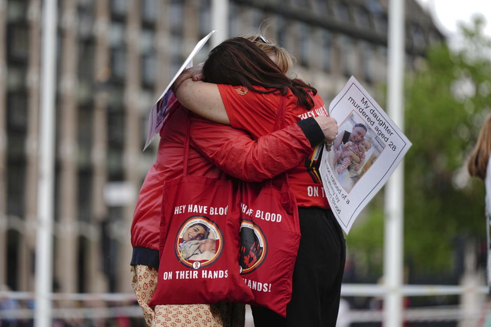
M 182 64 L 181 68 L 179 68 L 177 73 L 175 73 L 174 77 L 167 85 L 165 90 L 162 92 L 157 102 L 155 102 L 155 104 L 153 105 L 152 109 L 150 110 L 150 115 L 148 117 L 147 141 L 145 142 L 145 147 L 143 148 L 143 151 L 145 151 L 148 145 L 152 142 L 153 137 L 157 135 L 157 133 L 159 133 L 160 129 L 162 128 L 162 125 L 168 118 L 169 108 L 176 101 L 176 98 L 172 93 L 172 90 L 170 89 L 171 85 L 175 82 L 177 77 L 181 75 L 181 73 L 184 71 L 185 68 L 190 68 L 193 66 L 194 56 L 199 52 L 199 50 L 201 50 L 201 48 L 203 48 L 203 45 L 205 45 L 205 43 L 208 41 L 211 35 L 215 32 L 216 30 L 211 31 L 210 34 L 208 34 L 207 36 L 202 38 L 198 43 L 196 43 L 193 51 L 191 51 L 188 58 Z

